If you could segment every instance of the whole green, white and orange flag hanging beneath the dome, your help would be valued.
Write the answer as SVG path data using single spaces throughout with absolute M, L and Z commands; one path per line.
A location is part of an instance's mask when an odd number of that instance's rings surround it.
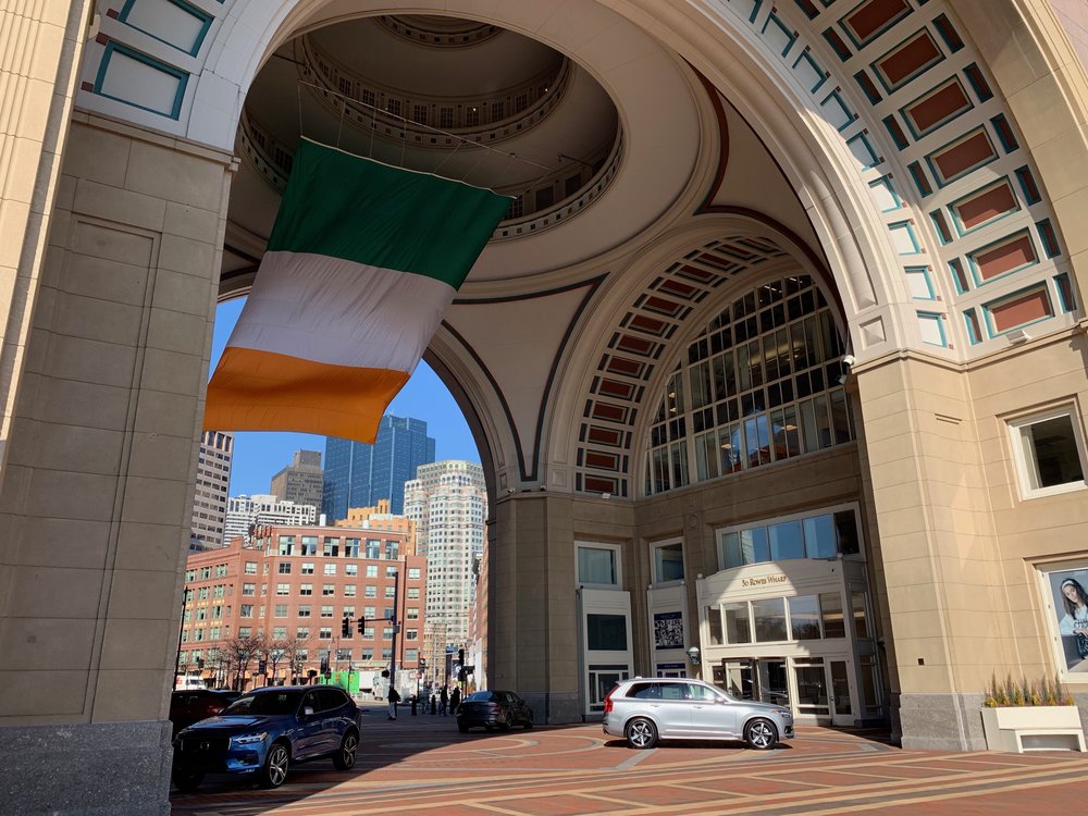
M 304 139 L 205 428 L 373 443 L 508 206 Z

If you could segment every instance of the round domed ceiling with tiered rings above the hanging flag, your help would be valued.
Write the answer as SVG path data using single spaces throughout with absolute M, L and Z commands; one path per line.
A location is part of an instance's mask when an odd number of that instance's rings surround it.
M 223 289 L 248 284 L 299 137 L 510 196 L 470 282 L 599 256 L 659 217 L 687 184 L 697 153 L 689 83 L 673 65 L 666 82 L 632 98 L 543 42 L 458 17 L 381 15 L 311 28 L 275 51 L 247 96 Z M 633 151 L 625 133 L 631 110 L 646 106 L 668 116 L 670 131 L 687 132 L 659 169 L 668 184 L 640 172 L 640 163 L 660 162 Z M 617 224 L 601 206 L 609 196 L 636 197 L 643 218 Z

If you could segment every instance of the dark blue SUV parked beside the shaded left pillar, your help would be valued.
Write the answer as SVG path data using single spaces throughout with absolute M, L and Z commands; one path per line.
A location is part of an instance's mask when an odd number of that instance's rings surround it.
M 335 685 L 285 685 L 243 694 L 221 714 L 174 738 L 174 784 L 196 788 L 206 774 L 256 777 L 279 788 L 290 765 L 332 758 L 355 765 L 361 715 Z

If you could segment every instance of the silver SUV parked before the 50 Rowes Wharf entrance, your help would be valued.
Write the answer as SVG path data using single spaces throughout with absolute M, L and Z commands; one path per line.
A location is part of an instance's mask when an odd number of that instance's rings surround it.
M 766 751 L 793 739 L 789 708 L 737 700 L 702 680 L 623 680 L 605 696 L 604 730 L 625 737 L 631 747 L 651 749 L 658 740 L 744 740 Z

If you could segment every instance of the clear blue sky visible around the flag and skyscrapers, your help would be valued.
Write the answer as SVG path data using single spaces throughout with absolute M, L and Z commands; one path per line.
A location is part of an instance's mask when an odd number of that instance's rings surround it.
M 245 298 L 222 304 L 215 313 L 212 339 L 211 371 L 215 370 Z M 209 376 L 211 372 L 209 371 Z M 435 456 L 443 459 L 480 461 L 465 415 L 434 371 L 420 361 L 408 384 L 393 399 L 386 413 L 412 417 L 426 422 L 428 435 L 435 441 Z M 220 429 L 228 431 L 231 429 Z M 325 437 L 307 433 L 238 432 L 234 435 L 234 463 L 231 473 L 231 495 L 268 493 L 275 475 L 296 450 L 320 450 L 324 463 Z

